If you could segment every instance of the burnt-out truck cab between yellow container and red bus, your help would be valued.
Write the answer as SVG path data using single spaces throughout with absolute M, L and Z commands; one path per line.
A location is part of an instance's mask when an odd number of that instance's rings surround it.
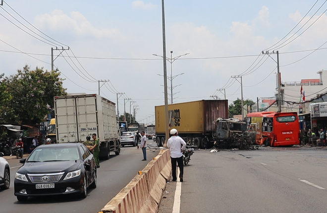
M 244 149 L 252 144 L 245 122 L 233 118 L 218 118 L 215 121 L 215 127 L 214 137 L 219 148 Z

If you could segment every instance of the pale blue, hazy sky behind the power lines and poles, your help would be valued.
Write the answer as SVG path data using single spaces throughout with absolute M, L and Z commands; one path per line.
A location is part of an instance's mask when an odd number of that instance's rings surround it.
M 68 93 L 97 93 L 98 83 L 90 81 L 109 79 L 111 88 L 109 85 L 109 89 L 103 86 L 101 94 L 116 102 L 115 93 L 124 92 L 125 95 L 119 99 L 120 114 L 124 109 L 123 98 L 131 98 L 140 108 L 138 121 L 154 114 L 155 105 L 164 103 L 161 86 L 163 77 L 157 75 L 163 74 L 163 61 L 152 55 L 163 55 L 160 0 L 5 0 L 3 6 L 0 6 L 0 14 L 24 28 L 8 13 L 26 26 L 28 23 L 6 3 L 43 33 L 68 45 L 75 56 L 89 57 L 78 60 L 92 77 L 75 59 L 72 60 L 81 71 L 68 58 L 67 61 L 75 71 L 62 57 L 55 60 L 55 67 L 70 79 L 64 81 Z M 326 42 L 326 9 L 327 3 L 324 4 L 324 0 L 166 0 L 167 56 L 170 57 L 171 50 L 172 57 L 189 53 L 172 64 L 173 76 L 184 73 L 173 80 L 173 85 L 181 84 L 173 90 L 174 93 L 178 92 L 174 95 L 174 102 L 210 99 L 211 95 L 223 98 L 216 91 L 219 88 L 226 88 L 230 102 L 240 98 L 240 84 L 231 81 L 230 76 L 245 72 L 257 58 L 249 55 L 259 55 L 262 50 L 274 45 L 304 16 L 302 22 L 283 41 L 295 34 L 289 40 L 291 41 L 305 32 L 286 46 L 271 50 L 280 53 L 282 81 L 318 78 L 317 71 L 327 69 L 327 50 L 318 50 L 303 60 L 300 59 L 311 52 L 289 52 L 317 49 Z M 17 50 L 0 41 L 0 73 L 13 74 L 26 64 L 32 69 L 38 66 L 51 70 L 49 54 L 54 46 L 31 37 L 1 15 L 2 41 L 22 52 L 47 55 L 33 55 L 44 61 L 41 62 L 24 54 L 4 52 Z M 306 30 L 320 15 L 322 16 Z M 300 29 L 301 27 L 303 28 Z M 296 32 L 297 30 L 299 31 Z M 322 48 L 324 47 L 326 46 Z M 67 54 L 73 56 L 71 51 L 67 51 Z M 228 58 L 230 56 L 247 57 Z M 276 59 L 276 55 L 271 56 Z M 94 57 L 106 59 L 90 59 Z M 211 57 L 216 58 L 206 59 Z M 276 63 L 266 58 L 267 55 L 259 57 L 262 61 L 255 69 L 262 65 L 257 70 L 245 72 L 244 98 L 256 100 L 257 97 L 274 95 Z M 297 60 L 300 61 L 284 66 Z M 167 73 L 170 75 L 169 63 Z M 84 74 L 88 80 L 79 76 Z M 257 83 L 259 84 L 255 85 Z M 129 112 L 129 103 L 126 111 Z

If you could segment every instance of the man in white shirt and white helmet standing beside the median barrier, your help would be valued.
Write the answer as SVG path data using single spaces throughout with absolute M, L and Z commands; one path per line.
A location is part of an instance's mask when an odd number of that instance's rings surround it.
M 183 182 L 184 164 L 183 164 L 183 149 L 186 147 L 186 142 L 180 137 L 177 137 L 177 130 L 171 129 L 171 137 L 168 139 L 166 146 L 170 149 L 170 159 L 172 168 L 172 181 L 176 181 L 176 162 L 179 167 L 179 181 Z

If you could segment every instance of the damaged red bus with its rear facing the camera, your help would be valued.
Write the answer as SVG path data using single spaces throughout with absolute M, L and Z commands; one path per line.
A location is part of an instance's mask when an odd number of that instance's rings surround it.
M 246 116 L 248 131 L 256 131 L 256 144 L 289 146 L 300 144 L 296 112 L 253 112 Z

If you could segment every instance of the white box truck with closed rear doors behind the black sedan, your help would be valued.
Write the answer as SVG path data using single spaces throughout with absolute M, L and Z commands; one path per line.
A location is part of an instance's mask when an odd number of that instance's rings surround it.
M 57 142 L 84 142 L 95 133 L 99 157 L 120 153 L 115 103 L 97 94 L 66 95 L 54 97 L 54 108 Z

